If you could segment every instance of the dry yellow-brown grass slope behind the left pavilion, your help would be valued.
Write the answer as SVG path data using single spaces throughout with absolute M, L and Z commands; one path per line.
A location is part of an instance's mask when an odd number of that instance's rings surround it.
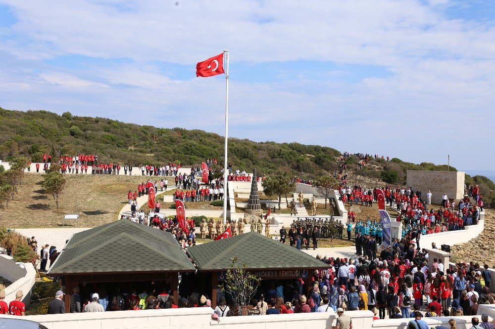
M 2 209 L 0 225 L 15 228 L 60 227 L 64 213 L 79 213 L 79 227 L 96 227 L 117 219 L 127 202 L 127 192 L 137 189 L 143 176 L 66 175 L 67 187 L 60 209 L 41 187 L 43 175 L 25 175 L 23 185 L 8 209 Z M 66 221 L 76 226 L 76 221 Z

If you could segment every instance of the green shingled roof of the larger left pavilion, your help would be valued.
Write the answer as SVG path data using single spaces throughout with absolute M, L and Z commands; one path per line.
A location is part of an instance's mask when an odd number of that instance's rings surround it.
M 74 234 L 48 275 L 195 271 L 168 232 L 121 219 Z

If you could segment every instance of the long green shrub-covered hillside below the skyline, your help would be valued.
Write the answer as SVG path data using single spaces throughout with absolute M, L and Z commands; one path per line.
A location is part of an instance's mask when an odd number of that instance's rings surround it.
M 183 166 L 198 165 L 207 158 L 223 161 L 223 137 L 202 130 L 157 128 L 122 123 L 105 118 L 61 116 L 47 111 L 9 111 L 0 108 L 0 159 L 8 161 L 23 155 L 41 162 L 44 153 L 54 156 L 98 154 L 100 162 L 121 164 L 163 164 L 170 161 Z M 155 136 L 155 141 L 153 141 Z M 260 174 L 290 171 L 301 178 L 315 179 L 339 170 L 337 157 L 342 153 L 330 147 L 299 143 L 254 142 L 229 138 L 229 162 L 234 168 Z M 446 170 L 446 165 L 412 164 L 399 159 L 374 160 L 358 168 L 358 158 L 346 160 L 349 183 L 367 187 L 405 184 L 406 171 Z M 456 170 L 450 167 L 450 170 Z M 478 183 L 488 196 L 494 183 L 484 176 L 466 175 L 466 183 Z M 487 200 L 488 201 L 488 200 Z M 489 204 L 489 202 L 486 202 Z

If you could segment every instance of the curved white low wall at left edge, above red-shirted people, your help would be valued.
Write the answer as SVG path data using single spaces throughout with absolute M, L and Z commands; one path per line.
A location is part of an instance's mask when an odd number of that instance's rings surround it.
M 9 256 L 0 255 L 0 276 L 12 282 L 5 288 L 5 302 L 8 304 L 15 299 L 17 290 L 22 290 L 22 301 L 29 305 L 31 302 L 31 289 L 36 279 L 36 271 L 31 263 L 18 265 Z

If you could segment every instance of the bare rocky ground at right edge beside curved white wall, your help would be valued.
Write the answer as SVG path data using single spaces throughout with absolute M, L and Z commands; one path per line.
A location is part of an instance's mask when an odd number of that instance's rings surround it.
M 480 264 L 487 263 L 491 268 L 495 266 L 495 253 L 493 243 L 495 241 L 495 214 L 485 210 L 485 230 L 475 239 L 451 248 L 455 261 L 476 261 Z

